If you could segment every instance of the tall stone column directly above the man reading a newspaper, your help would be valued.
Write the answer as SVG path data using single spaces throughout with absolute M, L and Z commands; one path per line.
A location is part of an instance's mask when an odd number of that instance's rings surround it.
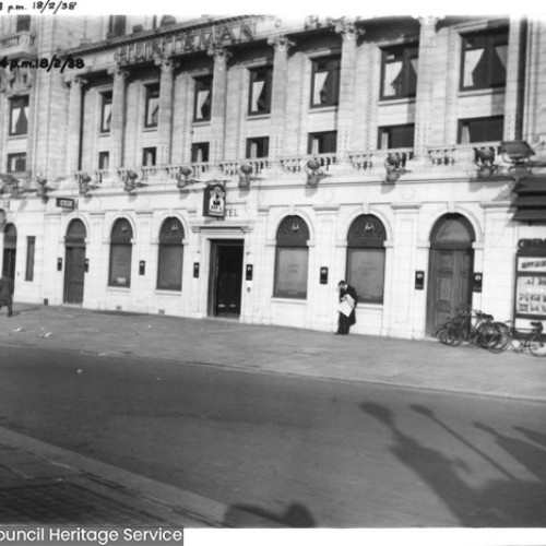
M 340 107 L 337 115 L 337 162 L 336 167 L 349 166 L 348 152 L 354 144 L 355 93 L 356 93 L 356 48 L 363 31 L 355 27 L 354 21 L 342 20 L 335 32 L 343 37 L 340 78 Z

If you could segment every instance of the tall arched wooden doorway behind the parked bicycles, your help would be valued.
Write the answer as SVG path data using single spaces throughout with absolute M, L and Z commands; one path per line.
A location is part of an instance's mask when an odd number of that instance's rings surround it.
M 461 214 L 446 214 L 430 233 L 427 334 L 432 334 L 460 306 L 472 305 L 472 273 L 476 239 Z

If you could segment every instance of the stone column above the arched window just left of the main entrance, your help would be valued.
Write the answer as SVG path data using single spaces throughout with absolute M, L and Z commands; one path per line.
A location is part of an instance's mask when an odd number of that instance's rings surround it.
M 170 164 L 173 147 L 173 92 L 174 71 L 177 64 L 173 59 L 158 58 L 155 63 L 162 71 L 159 84 L 159 117 L 157 127 L 157 165 Z

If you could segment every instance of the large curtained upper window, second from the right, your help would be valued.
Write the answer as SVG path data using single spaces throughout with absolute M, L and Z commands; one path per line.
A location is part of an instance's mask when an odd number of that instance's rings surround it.
M 415 44 L 381 52 L 381 99 L 410 98 L 417 92 L 419 48 Z

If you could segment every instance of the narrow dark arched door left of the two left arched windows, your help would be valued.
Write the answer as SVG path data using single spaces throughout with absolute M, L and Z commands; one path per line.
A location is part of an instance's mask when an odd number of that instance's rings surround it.
M 85 226 L 81 219 L 73 219 L 64 237 L 64 297 L 66 304 L 83 302 L 85 277 Z

